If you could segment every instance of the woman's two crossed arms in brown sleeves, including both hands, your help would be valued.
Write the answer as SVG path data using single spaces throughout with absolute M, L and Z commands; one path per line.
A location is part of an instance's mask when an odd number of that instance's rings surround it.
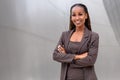
M 61 63 L 73 63 L 79 67 L 94 65 L 98 53 L 99 36 L 96 35 L 90 43 L 88 52 L 83 54 L 66 53 L 64 46 L 58 45 L 53 53 L 53 59 Z M 61 39 L 58 44 L 61 44 Z

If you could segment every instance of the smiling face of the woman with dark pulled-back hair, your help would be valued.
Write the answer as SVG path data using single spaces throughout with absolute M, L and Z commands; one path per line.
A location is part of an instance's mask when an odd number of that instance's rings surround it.
M 83 7 L 75 6 L 72 8 L 71 20 L 76 27 L 84 26 L 85 19 L 87 19 L 87 13 Z

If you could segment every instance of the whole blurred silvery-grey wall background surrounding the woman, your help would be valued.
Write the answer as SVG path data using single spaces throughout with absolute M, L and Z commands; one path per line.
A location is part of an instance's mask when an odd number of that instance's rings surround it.
M 0 80 L 59 80 L 52 54 L 75 3 L 100 36 L 98 79 L 120 79 L 120 0 L 0 0 Z

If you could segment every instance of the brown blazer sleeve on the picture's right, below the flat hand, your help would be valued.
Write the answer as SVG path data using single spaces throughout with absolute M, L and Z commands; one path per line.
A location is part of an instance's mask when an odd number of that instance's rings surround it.
M 88 56 L 83 59 L 75 60 L 74 63 L 80 67 L 93 66 L 98 55 L 98 47 L 99 35 L 97 33 L 94 33 L 92 34 L 92 39 L 89 45 Z

